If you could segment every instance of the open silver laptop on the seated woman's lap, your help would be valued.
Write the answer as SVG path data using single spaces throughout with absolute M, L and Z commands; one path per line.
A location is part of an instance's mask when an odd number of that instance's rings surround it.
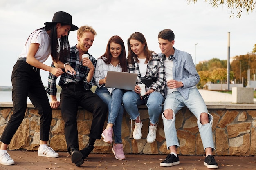
M 137 73 L 108 71 L 105 87 L 134 90 Z

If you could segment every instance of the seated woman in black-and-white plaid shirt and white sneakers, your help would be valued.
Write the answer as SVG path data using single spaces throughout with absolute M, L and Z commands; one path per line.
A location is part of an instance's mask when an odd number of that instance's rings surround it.
M 157 122 L 162 112 L 164 102 L 165 73 L 162 57 L 148 49 L 146 39 L 142 33 L 135 32 L 128 38 L 128 71 L 137 73 L 137 82 L 133 91 L 127 91 L 123 95 L 123 103 L 126 112 L 132 120 L 135 120 L 133 138 L 141 139 L 142 122 L 139 116 L 138 105 L 146 104 L 150 119 L 147 142 L 152 143 L 156 139 Z M 145 84 L 145 94 L 141 93 Z

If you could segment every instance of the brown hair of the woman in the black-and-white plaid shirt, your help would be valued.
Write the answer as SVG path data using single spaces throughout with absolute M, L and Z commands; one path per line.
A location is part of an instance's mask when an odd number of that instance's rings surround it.
M 148 49 L 148 44 L 147 44 L 147 42 L 146 42 L 146 38 L 144 37 L 144 35 L 143 35 L 142 33 L 135 32 L 135 33 L 132 33 L 132 35 L 130 35 L 130 37 L 129 37 L 128 40 L 127 40 L 127 44 L 128 44 L 127 62 L 128 62 L 129 64 L 134 63 L 134 60 L 133 60 L 134 57 L 135 57 L 136 61 L 139 62 L 138 56 L 137 56 L 135 53 L 133 53 L 133 51 L 132 51 L 132 49 L 131 49 L 131 47 L 130 47 L 130 40 L 131 40 L 131 39 L 138 40 L 138 41 L 141 42 L 142 44 L 145 44 L 145 46 L 144 46 L 144 54 L 146 55 L 146 61 L 145 61 L 145 62 L 147 63 L 148 61 L 150 61 L 151 58 L 152 58 L 152 52 L 153 52 L 153 51 L 150 51 L 150 50 Z

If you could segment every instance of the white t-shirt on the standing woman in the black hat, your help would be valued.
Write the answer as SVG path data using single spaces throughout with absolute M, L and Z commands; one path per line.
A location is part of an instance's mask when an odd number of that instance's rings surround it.
M 29 46 L 31 43 L 38 43 L 39 48 L 36 52 L 35 58 L 40 62 L 45 62 L 51 54 L 51 38 L 46 31 L 37 30 L 35 33 L 32 33 L 25 47 L 22 49 L 22 52 L 19 55 L 19 58 L 27 58 L 27 53 L 29 51 Z

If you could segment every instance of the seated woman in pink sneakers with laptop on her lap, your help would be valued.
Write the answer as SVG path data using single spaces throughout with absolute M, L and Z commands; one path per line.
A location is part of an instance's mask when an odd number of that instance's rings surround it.
M 115 144 L 112 151 L 115 158 L 124 160 L 123 144 L 121 139 L 121 127 L 124 108 L 122 106 L 122 97 L 124 91 L 116 88 L 106 88 L 106 76 L 108 71 L 123 71 L 127 72 L 126 52 L 123 40 L 115 35 L 108 40 L 106 52 L 98 58 L 95 68 L 95 82 L 97 89 L 95 93 L 108 106 L 108 124 L 101 136 L 104 141 L 112 144 L 114 133 Z

